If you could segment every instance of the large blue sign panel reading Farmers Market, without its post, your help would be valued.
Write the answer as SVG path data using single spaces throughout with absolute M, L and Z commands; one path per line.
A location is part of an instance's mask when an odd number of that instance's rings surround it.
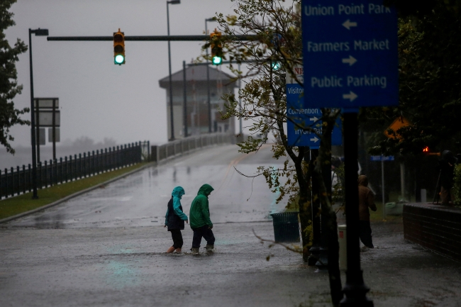
M 302 0 L 304 99 L 313 108 L 399 103 L 397 17 L 382 0 Z

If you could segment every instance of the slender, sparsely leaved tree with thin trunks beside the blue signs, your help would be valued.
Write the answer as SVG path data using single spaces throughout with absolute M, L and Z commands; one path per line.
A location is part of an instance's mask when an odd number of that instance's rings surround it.
M 285 79 L 287 75 L 296 79 L 294 67 L 302 65 L 301 42 L 301 1 L 279 0 L 231 0 L 235 2 L 233 15 L 218 14 L 216 21 L 221 38 L 213 37 L 213 43 L 220 43 L 230 60 L 230 69 L 244 79 L 246 84 L 239 91 L 238 100 L 233 94 L 222 98 L 226 101 L 223 118 L 243 118 L 249 123 L 251 133 L 261 135 L 261 138 L 250 136 L 239 143 L 240 152 L 257 152 L 274 135 L 272 152 L 277 160 L 283 160 L 283 167 L 265 167 L 257 169 L 255 176 L 264 176 L 271 191 L 278 192 L 277 202 L 287 197 L 288 206 L 299 210 L 301 222 L 301 252 L 304 261 L 309 257 L 311 247 L 311 203 L 321 203 L 322 217 L 328 220 L 331 228 L 331 248 L 329 253 L 328 272 L 331 284 L 333 305 L 337 306 L 343 297 L 341 292 L 340 272 L 338 267 L 338 238 L 336 231 L 336 216 L 331 208 L 331 201 L 321 176 L 321 169 L 330 153 L 328 139 L 318 134 L 316 127 L 309 124 L 295 123 L 296 128 L 314 133 L 322 140 L 319 155 L 314 161 L 309 161 L 308 147 L 291 146 L 287 140 L 285 125 L 287 117 L 287 94 Z M 256 35 L 257 40 L 238 40 L 234 35 Z M 204 48 L 208 48 L 207 44 Z M 245 65 L 248 72 L 238 70 L 236 64 Z M 248 81 L 247 81 L 248 80 Z M 302 85 L 302 80 L 296 79 Z M 331 135 L 335 119 L 339 111 L 323 109 L 323 135 Z M 306 162 L 306 160 L 308 160 Z M 328 164 L 328 177 L 331 166 Z M 284 179 L 284 180 L 282 180 Z M 311 182 L 318 182 L 319 193 L 311 199 Z M 329 246 L 330 247 L 330 246 Z M 329 254 L 330 256 L 330 254 Z

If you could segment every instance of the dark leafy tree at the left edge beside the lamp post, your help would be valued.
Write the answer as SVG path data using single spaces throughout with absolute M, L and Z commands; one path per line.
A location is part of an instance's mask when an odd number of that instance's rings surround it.
M 13 13 L 9 11 L 15 2 L 16 0 L 0 2 L 0 144 L 11 154 L 14 154 L 14 149 L 9 142 L 14 138 L 10 134 L 10 128 L 13 125 L 30 125 L 29 121 L 20 118 L 22 114 L 29 111 L 29 108 L 18 110 L 13 102 L 14 97 L 21 94 L 23 89 L 23 86 L 18 85 L 16 62 L 18 55 L 26 52 L 27 46 L 18 39 L 11 47 L 4 33 L 7 28 L 16 24 L 13 21 Z

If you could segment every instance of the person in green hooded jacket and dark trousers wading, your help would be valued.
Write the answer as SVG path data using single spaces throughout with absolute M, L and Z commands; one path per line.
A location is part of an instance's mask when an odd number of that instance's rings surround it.
M 210 220 L 210 209 L 208 196 L 214 189 L 209 184 L 204 184 L 200 187 L 197 196 L 191 204 L 189 217 L 191 219 L 191 228 L 194 231 L 194 238 L 192 239 L 192 254 L 198 254 L 201 238 L 206 240 L 206 251 L 213 252 L 214 248 L 214 235 L 213 223 Z

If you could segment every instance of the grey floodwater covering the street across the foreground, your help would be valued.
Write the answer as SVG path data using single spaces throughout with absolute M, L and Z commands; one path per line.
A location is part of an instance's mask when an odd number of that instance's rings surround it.
M 1 306 L 331 306 L 325 272 L 252 229 L 273 238 L 272 223 L 218 223 L 215 255 L 192 256 L 165 254 L 158 225 L 0 228 Z M 372 230 L 361 257 L 374 306 L 461 306 L 459 262 L 405 242 L 401 223 Z

